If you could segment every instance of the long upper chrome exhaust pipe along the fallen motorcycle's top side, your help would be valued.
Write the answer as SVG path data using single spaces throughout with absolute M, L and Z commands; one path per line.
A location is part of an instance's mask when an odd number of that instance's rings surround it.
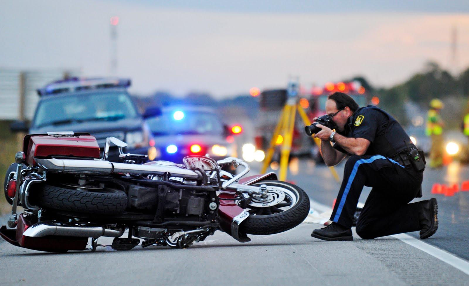
M 85 173 L 94 175 L 110 175 L 112 173 L 154 174 L 164 175 L 169 173 L 173 177 L 201 179 L 199 172 L 182 169 L 177 166 L 162 166 L 157 164 L 138 165 L 126 163 L 114 163 L 103 160 L 74 160 L 34 157 L 34 161 L 40 167 L 52 173 Z

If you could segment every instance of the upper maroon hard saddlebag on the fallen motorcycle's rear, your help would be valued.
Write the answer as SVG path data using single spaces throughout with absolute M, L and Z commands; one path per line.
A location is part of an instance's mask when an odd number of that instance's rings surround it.
M 76 156 L 99 158 L 96 138 L 88 133 L 73 136 L 50 136 L 47 134 L 26 135 L 23 141 L 26 163 L 34 166 L 34 156 Z

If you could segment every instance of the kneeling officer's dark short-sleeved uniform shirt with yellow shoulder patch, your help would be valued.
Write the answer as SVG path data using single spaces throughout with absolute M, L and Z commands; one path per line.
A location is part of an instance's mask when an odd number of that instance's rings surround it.
M 406 143 L 408 147 L 415 147 L 401 124 L 393 116 L 373 105 L 358 108 L 354 115 L 350 116 L 345 130 L 338 133 L 345 137 L 369 140 L 371 143 L 364 155 L 393 157 L 407 150 Z M 333 147 L 348 154 L 339 144 L 334 144 Z

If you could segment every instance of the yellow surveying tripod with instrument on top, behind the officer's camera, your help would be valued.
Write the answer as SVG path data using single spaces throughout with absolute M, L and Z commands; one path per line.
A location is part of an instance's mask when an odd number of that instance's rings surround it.
M 280 181 L 285 181 L 287 179 L 287 168 L 288 168 L 288 158 L 290 156 L 290 151 L 292 147 L 293 140 L 293 130 L 295 127 L 295 115 L 296 111 L 303 120 L 305 126 L 311 125 L 310 119 L 306 116 L 303 108 L 301 107 L 298 100 L 298 81 L 290 80 L 287 87 L 287 101 L 285 106 L 282 108 L 282 113 L 280 115 L 279 122 L 273 131 L 272 139 L 270 140 L 269 149 L 265 155 L 264 164 L 262 165 L 261 173 L 265 173 L 267 167 L 272 161 L 273 152 L 277 145 L 277 138 L 279 135 L 283 136 L 283 141 L 280 151 Z M 321 140 L 314 138 L 314 142 L 319 147 Z M 329 170 L 332 172 L 333 177 L 339 182 L 339 175 L 337 175 L 334 167 L 329 167 Z

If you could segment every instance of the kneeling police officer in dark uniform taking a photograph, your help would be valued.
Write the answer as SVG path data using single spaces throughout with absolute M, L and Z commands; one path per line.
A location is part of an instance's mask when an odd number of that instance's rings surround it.
M 352 222 L 363 186 L 372 190 L 356 224 L 363 239 L 420 231 L 420 238 L 438 228 L 436 199 L 409 203 L 422 197 L 425 168 L 422 152 L 412 144 L 401 125 L 375 106 L 358 108 L 345 93 L 333 93 L 325 109 L 331 126 L 321 124 L 314 137 L 321 139 L 321 155 L 327 166 L 350 155 L 328 226 L 311 236 L 321 240 L 353 240 Z M 332 142 L 332 144 L 331 144 Z

